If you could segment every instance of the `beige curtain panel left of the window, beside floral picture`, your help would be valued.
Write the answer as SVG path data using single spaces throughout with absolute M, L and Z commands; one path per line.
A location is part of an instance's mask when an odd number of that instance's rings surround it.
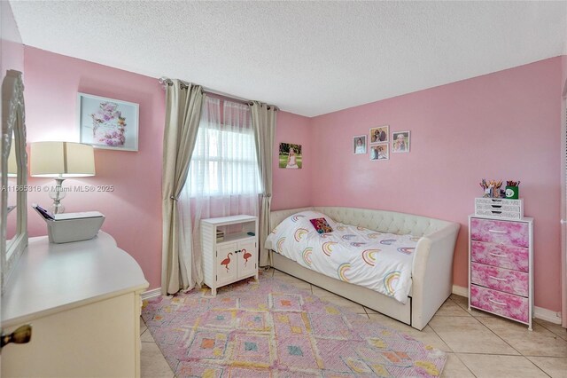
M 161 182 L 163 245 L 161 292 L 177 293 L 190 287 L 190 246 L 180 242 L 180 215 L 177 199 L 185 185 L 190 158 L 197 139 L 203 104 L 199 85 L 171 80 L 166 85 L 166 127 L 163 138 Z M 190 225 L 189 225 L 190 226 Z

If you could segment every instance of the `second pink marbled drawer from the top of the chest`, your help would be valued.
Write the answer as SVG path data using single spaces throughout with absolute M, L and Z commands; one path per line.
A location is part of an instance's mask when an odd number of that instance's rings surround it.
M 477 263 L 528 272 L 529 256 L 528 248 L 470 240 L 470 260 Z

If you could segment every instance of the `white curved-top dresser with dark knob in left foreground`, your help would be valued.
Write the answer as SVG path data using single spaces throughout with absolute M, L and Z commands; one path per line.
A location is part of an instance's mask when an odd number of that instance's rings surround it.
M 4 346 L 2 377 L 139 377 L 146 287 L 105 232 L 66 244 L 31 238 L 2 296 L 2 327 L 29 323 L 32 337 Z

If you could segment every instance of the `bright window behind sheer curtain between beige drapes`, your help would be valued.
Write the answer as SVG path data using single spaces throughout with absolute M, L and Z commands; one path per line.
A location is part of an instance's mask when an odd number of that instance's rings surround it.
M 191 197 L 260 193 L 248 106 L 206 98 L 186 185 Z

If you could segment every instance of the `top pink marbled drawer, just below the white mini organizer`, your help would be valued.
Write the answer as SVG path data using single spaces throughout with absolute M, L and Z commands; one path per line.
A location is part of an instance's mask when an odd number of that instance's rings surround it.
M 470 238 L 517 247 L 530 245 L 528 224 L 524 222 L 470 218 Z

